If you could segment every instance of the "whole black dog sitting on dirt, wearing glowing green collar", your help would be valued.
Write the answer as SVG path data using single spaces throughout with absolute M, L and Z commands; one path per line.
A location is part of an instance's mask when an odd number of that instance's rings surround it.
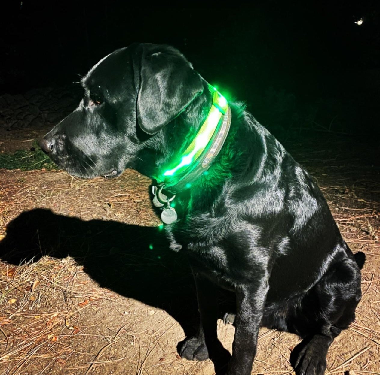
M 364 254 L 353 256 L 307 172 L 172 47 L 116 50 L 82 85 L 78 108 L 41 148 L 72 175 L 135 168 L 157 180 L 154 203 L 198 294 L 199 330 L 180 355 L 204 360 L 220 349 L 222 287 L 237 302 L 225 318 L 236 327 L 228 374 L 251 373 L 261 325 L 304 338 L 291 356 L 296 373 L 323 374 L 332 340 L 355 318 Z

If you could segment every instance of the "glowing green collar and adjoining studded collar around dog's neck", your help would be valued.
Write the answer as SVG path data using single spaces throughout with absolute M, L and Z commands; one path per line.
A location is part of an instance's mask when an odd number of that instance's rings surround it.
M 165 170 L 158 181 L 164 190 L 177 194 L 209 169 L 226 140 L 231 124 L 231 109 L 226 98 L 208 84 L 212 105 L 206 120 L 179 160 Z

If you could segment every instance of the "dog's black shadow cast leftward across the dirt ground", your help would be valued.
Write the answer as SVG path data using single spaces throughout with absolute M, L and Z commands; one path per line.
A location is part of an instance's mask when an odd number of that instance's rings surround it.
M 0 257 L 19 265 L 43 255 L 70 255 L 101 287 L 164 309 L 187 337 L 195 334 L 199 318 L 190 267 L 184 255 L 169 249 L 159 228 L 25 211 L 7 225 Z

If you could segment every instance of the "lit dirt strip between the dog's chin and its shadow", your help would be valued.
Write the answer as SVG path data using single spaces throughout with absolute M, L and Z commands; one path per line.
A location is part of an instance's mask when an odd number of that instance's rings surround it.
M 101 177 L 84 180 L 62 171 L 0 170 L 0 181 L 0 235 L 4 235 L 7 222 L 26 208 L 35 207 L 85 220 L 114 219 L 145 226 L 160 224 L 151 207 L 150 180 L 132 170 L 125 171 L 117 180 Z

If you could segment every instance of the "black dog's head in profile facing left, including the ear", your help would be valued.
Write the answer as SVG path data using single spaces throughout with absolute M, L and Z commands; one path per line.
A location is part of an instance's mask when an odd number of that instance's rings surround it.
M 59 167 L 84 178 L 120 175 L 143 149 L 163 153 L 162 129 L 206 87 L 178 50 L 154 44 L 112 52 L 82 86 L 78 108 L 40 146 Z

